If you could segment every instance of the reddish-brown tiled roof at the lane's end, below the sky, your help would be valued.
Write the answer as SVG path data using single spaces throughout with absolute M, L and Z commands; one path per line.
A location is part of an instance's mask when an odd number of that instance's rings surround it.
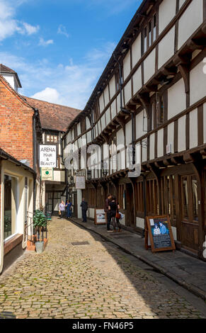
M 60 106 L 59 104 L 40 101 L 25 96 L 23 96 L 23 98 L 25 98 L 25 101 L 27 101 L 30 106 L 38 108 L 42 129 L 66 132 L 69 123 L 81 112 L 81 110 L 69 108 L 69 106 Z

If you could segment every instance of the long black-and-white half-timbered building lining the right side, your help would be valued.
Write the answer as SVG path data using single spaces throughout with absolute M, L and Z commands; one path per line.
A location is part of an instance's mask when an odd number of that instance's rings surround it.
M 114 193 L 125 226 L 141 232 L 146 215 L 168 214 L 176 245 L 203 259 L 205 93 L 206 1 L 142 1 L 84 111 L 63 137 L 76 215 L 82 196 L 94 218 L 94 209 Z M 91 144 L 101 151 L 89 149 Z M 77 157 L 83 147 L 90 170 Z M 141 166 L 137 176 L 130 174 L 131 159 Z M 79 174 L 86 176 L 83 191 L 74 186 Z

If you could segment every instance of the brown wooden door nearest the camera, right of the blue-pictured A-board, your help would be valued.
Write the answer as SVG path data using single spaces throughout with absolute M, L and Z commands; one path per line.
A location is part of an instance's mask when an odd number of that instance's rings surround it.
M 196 176 L 181 176 L 181 243 L 198 254 L 198 180 Z

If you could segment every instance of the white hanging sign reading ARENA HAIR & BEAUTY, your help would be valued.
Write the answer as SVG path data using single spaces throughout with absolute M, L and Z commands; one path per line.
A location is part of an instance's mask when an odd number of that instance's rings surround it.
M 40 145 L 40 168 L 57 167 L 57 146 Z

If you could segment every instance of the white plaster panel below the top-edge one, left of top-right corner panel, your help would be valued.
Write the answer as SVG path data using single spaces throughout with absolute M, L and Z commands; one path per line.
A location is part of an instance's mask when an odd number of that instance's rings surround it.
M 158 68 L 162 67 L 174 54 L 175 27 L 171 28 L 159 43 Z

